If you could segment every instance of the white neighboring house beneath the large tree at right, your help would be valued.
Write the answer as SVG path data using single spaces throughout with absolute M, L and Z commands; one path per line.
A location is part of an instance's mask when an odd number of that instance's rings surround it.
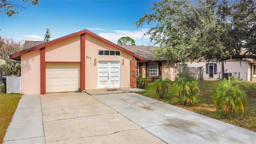
M 242 50 L 241 54 L 246 51 Z M 199 59 L 198 59 L 199 60 Z M 190 62 L 189 56 L 185 63 L 188 67 L 198 67 L 203 66 L 204 68 L 204 78 L 221 78 L 221 62 L 207 62 L 204 58 L 200 62 L 194 60 Z M 236 76 L 245 81 L 256 81 L 256 63 L 253 59 L 242 58 L 240 59 L 230 59 L 224 62 L 225 77 L 228 75 Z

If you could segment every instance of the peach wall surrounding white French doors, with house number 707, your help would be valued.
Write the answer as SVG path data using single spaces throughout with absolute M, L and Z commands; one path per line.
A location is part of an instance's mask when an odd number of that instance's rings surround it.
M 119 50 L 90 34 L 85 35 L 85 89 L 98 88 L 98 61 L 120 62 L 120 87 L 130 88 L 130 60 L 133 56 L 120 50 L 120 56 L 98 56 L 98 50 Z

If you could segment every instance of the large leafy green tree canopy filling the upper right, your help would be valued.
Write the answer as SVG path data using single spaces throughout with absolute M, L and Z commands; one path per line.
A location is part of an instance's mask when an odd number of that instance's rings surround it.
M 155 22 L 144 35 L 159 45 L 156 58 L 170 62 L 256 59 L 256 4 L 253 0 L 163 0 L 153 2 L 137 28 Z M 242 55 L 241 50 L 246 50 Z

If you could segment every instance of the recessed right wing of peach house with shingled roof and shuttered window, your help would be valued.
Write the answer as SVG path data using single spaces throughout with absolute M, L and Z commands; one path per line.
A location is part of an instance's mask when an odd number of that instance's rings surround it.
M 166 64 L 164 59 L 155 59 L 152 56 L 153 46 L 129 46 L 119 45 L 130 52 L 141 56 L 144 60 L 138 60 L 137 76 L 148 76 L 150 80 L 156 80 L 159 76 L 168 77 L 170 80 L 175 79 L 175 64 Z

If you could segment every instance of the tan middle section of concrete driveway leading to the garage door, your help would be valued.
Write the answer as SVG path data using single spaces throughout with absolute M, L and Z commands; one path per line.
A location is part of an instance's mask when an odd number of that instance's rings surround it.
M 46 143 L 164 143 L 84 93 L 41 95 Z

